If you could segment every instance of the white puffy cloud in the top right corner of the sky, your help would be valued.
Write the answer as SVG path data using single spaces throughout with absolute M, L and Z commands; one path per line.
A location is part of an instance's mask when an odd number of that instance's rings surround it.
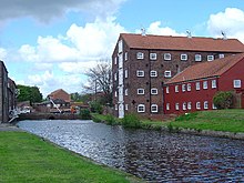
M 244 11 L 226 8 L 224 12 L 211 14 L 207 30 L 214 37 L 222 37 L 221 31 L 224 31 L 227 38 L 237 38 L 244 42 Z

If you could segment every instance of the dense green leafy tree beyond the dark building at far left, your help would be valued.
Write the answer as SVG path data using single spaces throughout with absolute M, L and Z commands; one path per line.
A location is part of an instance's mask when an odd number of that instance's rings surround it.
M 18 102 L 30 101 L 30 103 L 41 102 L 42 94 L 37 87 L 17 85 L 20 90 Z

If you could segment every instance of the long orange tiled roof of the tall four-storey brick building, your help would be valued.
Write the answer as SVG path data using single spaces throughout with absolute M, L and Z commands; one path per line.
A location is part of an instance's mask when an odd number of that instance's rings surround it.
M 134 49 L 244 52 L 244 44 L 237 39 L 223 40 L 199 37 L 141 35 L 133 33 L 121 33 L 121 38 L 124 39 L 130 48 Z

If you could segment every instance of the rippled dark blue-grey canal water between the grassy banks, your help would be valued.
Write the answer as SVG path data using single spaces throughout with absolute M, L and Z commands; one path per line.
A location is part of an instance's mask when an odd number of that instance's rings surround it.
M 148 182 L 244 182 L 244 141 L 79 120 L 21 121 L 18 125 Z

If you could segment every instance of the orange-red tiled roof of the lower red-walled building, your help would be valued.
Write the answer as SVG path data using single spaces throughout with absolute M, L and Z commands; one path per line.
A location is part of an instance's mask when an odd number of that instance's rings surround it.
M 165 82 L 165 84 L 218 77 L 240 61 L 244 61 L 244 53 L 230 55 L 223 59 L 217 59 L 204 63 L 197 63 L 195 65 L 186 68 L 184 71 Z

